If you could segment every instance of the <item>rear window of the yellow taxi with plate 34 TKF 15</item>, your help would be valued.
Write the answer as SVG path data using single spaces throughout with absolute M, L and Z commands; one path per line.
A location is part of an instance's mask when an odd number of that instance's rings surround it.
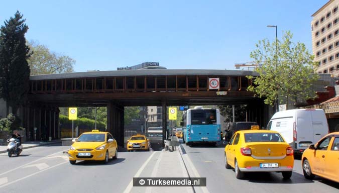
M 285 142 L 279 133 L 245 133 L 245 142 Z

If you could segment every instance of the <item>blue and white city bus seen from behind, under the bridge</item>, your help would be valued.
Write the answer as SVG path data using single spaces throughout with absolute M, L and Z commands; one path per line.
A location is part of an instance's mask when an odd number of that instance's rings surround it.
M 188 109 L 182 117 L 183 142 L 213 143 L 220 141 L 220 111 L 218 109 L 203 109 L 195 107 Z

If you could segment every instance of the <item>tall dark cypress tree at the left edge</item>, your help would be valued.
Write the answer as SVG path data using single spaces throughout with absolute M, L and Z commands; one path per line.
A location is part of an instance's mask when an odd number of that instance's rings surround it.
M 25 34 L 28 26 L 19 11 L 14 18 L 5 21 L 0 34 L 0 98 L 16 115 L 18 108 L 25 103 L 29 91 L 30 57 Z

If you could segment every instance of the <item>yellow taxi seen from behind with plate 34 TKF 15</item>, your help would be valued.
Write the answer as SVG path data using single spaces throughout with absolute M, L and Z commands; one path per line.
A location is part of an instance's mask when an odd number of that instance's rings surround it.
M 292 176 L 294 157 L 291 148 L 276 131 L 237 131 L 224 150 L 225 167 L 235 168 L 238 179 L 245 172 L 282 172 Z

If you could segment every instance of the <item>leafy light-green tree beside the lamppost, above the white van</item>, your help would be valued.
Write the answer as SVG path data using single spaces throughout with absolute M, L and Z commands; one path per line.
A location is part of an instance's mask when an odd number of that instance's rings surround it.
M 259 41 L 256 49 L 251 52 L 251 58 L 260 67 L 256 71 L 258 77 L 248 76 L 254 85 L 248 87 L 255 96 L 265 98 L 268 105 L 275 105 L 276 98 L 279 103 L 315 98 L 312 83 L 318 79 L 314 73 L 316 62 L 303 43 L 293 43 L 293 35 L 288 31 L 284 34 L 282 42 L 270 43 L 267 39 Z M 277 48 L 276 49 L 276 45 Z

